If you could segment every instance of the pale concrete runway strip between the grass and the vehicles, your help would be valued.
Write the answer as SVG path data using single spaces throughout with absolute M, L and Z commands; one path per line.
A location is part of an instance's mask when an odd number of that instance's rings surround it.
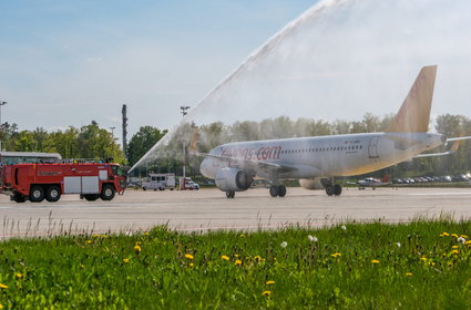
M 345 188 L 339 197 L 322 190 L 288 188 L 273 198 L 266 188 L 225 198 L 218 189 L 127 190 L 112 202 L 85 202 L 78 195 L 51 203 L 10 202 L 0 196 L 0 237 L 125 232 L 167 225 L 184 231 L 273 229 L 289 225 L 322 227 L 346 221 L 405 223 L 414 218 L 471 217 L 471 188 Z

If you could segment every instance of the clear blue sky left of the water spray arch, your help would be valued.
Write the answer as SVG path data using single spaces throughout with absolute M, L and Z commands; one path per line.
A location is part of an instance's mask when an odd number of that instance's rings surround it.
M 1 121 L 19 130 L 96 121 L 129 137 L 172 127 L 286 23 L 316 1 L 4 0 Z

